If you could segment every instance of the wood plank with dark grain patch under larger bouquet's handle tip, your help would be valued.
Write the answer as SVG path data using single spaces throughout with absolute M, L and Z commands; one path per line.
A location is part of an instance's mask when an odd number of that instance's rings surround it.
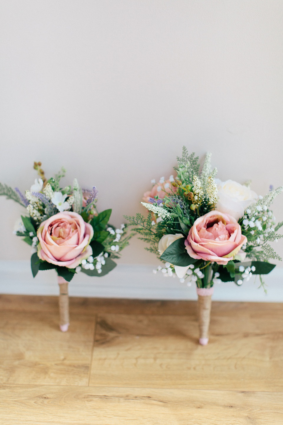
M 269 312 L 213 308 L 208 346 L 196 317 L 104 314 L 90 385 L 281 391 L 282 321 Z

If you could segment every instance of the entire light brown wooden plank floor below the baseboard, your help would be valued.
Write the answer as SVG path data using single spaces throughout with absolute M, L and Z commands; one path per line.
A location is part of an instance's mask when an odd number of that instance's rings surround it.
M 0 424 L 283 424 L 283 305 L 0 295 Z

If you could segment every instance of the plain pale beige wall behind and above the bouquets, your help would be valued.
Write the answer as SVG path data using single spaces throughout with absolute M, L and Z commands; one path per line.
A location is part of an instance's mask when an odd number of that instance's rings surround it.
M 2 1 L 0 181 L 24 191 L 34 160 L 64 165 L 118 225 L 185 144 L 264 195 L 283 184 L 282 22 L 281 0 Z M 1 260 L 30 258 L 22 212 L 0 198 Z M 143 246 L 121 262 L 157 263 Z

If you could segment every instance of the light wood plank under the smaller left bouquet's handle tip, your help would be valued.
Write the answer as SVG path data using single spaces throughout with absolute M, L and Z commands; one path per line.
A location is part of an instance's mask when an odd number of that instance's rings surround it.
M 87 385 L 95 318 L 71 314 L 63 333 L 56 314 L 0 312 L 0 383 Z

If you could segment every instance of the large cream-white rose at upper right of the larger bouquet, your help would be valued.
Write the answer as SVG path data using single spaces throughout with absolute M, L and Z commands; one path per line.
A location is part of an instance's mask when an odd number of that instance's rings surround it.
M 258 195 L 249 187 L 233 180 L 216 179 L 219 201 L 215 209 L 232 215 L 237 221 L 243 217 L 244 210 L 258 199 Z

